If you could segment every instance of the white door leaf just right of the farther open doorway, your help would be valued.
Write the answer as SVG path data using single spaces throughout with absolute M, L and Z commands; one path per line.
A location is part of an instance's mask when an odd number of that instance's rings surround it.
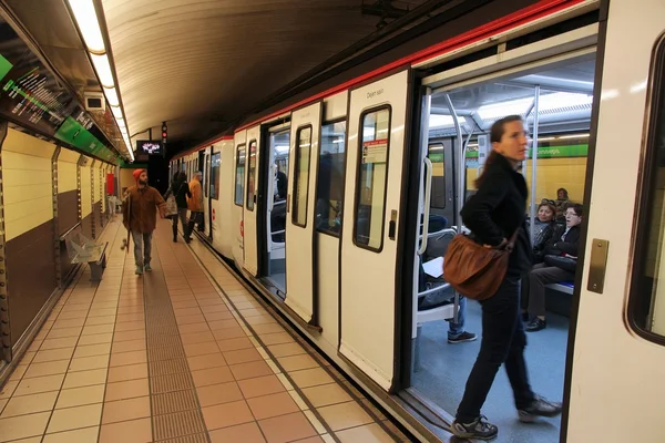
M 314 239 L 316 165 L 318 164 L 321 103 L 291 114 L 289 195 L 287 198 L 286 305 L 303 320 L 314 315 Z M 308 266 L 309 265 L 309 266 Z

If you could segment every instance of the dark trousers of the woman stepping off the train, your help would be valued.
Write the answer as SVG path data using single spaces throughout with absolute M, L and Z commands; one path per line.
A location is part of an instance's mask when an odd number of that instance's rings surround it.
M 462 423 L 470 423 L 480 415 L 502 363 L 505 363 L 515 406 L 528 408 L 534 399 L 524 361 L 526 334 L 519 315 L 519 277 L 507 276 L 497 293 L 480 303 L 482 342 L 457 412 L 457 420 Z

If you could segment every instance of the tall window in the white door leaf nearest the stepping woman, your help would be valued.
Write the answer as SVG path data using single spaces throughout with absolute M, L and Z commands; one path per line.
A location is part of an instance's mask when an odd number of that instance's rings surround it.
M 379 251 L 383 246 L 390 110 L 364 114 L 360 131 L 354 241 L 359 247 Z

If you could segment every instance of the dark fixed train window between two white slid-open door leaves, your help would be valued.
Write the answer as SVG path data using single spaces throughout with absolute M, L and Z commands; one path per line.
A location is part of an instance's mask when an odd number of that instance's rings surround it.
M 316 184 L 316 229 L 339 236 L 344 199 L 346 122 L 321 127 Z

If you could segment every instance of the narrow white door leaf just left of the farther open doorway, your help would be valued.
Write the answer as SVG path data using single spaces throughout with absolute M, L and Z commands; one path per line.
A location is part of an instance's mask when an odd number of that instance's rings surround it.
M 258 274 L 258 236 L 257 236 L 257 194 L 258 194 L 258 156 L 260 151 L 260 125 L 247 130 L 247 184 L 245 187 L 244 226 L 244 268 L 256 276 Z

